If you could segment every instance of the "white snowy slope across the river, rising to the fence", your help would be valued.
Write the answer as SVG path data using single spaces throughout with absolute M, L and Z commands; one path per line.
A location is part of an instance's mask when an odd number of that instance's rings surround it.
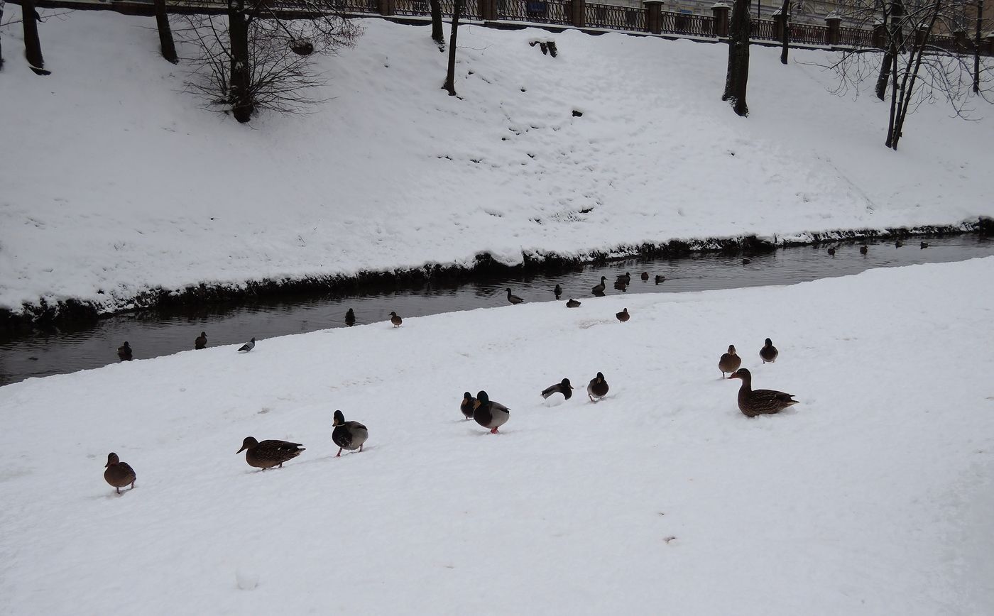
M 743 119 L 725 45 L 466 25 L 454 98 L 426 28 L 363 26 L 320 60 L 330 100 L 248 126 L 182 91 L 152 18 L 49 19 L 44 78 L 6 28 L 0 307 L 994 214 L 994 122 L 926 104 L 892 152 L 887 103 L 801 64 L 826 52 L 753 47 Z

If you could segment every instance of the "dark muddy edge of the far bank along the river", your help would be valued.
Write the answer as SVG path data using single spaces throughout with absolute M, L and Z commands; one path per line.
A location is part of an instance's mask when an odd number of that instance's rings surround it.
M 633 257 L 675 258 L 694 252 L 742 252 L 754 254 L 777 247 L 818 244 L 859 239 L 898 237 L 928 237 L 948 234 L 978 232 L 994 234 L 994 219 L 980 218 L 958 225 L 896 228 L 885 230 L 861 229 L 821 231 L 791 235 L 783 239 L 774 235 L 773 240 L 755 235 L 741 237 L 709 237 L 704 239 L 672 239 L 664 243 L 643 243 L 617 246 L 612 250 L 585 252 L 579 256 L 562 256 L 555 253 L 535 252 L 523 254 L 523 261 L 507 265 L 495 261 L 490 254 L 477 254 L 471 266 L 424 265 L 412 269 L 360 272 L 354 276 L 328 275 L 279 280 L 249 280 L 242 284 L 188 286 L 183 289 L 149 289 L 134 297 L 116 298 L 107 304 L 81 300 L 66 300 L 51 304 L 44 299 L 36 305 L 25 304 L 22 311 L 14 313 L 0 309 L 0 333 L 23 331 L 32 328 L 81 326 L 101 317 L 149 308 L 169 308 L 202 305 L 213 302 L 231 302 L 249 298 L 279 295 L 322 295 L 356 292 L 382 292 L 399 288 L 417 288 L 425 283 L 457 284 L 470 280 L 492 277 L 506 278 L 515 274 L 568 272 L 586 263 L 604 263 Z

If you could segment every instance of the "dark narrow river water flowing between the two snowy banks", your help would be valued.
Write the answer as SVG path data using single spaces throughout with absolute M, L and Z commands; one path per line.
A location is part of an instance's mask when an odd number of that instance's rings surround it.
M 351 295 L 306 297 L 283 296 L 259 301 L 219 303 L 196 308 L 170 308 L 121 314 L 77 330 L 36 332 L 27 335 L 0 334 L 0 385 L 33 377 L 46 377 L 99 368 L 117 361 L 117 347 L 128 341 L 134 359 L 170 355 L 193 348 L 194 339 L 206 331 L 210 346 L 243 343 L 256 339 L 299 334 L 332 327 L 346 327 L 345 313 L 352 308 L 356 323 L 386 321 L 390 312 L 417 317 L 455 310 L 506 305 L 504 289 L 528 302 L 555 301 L 553 287 L 563 287 L 563 302 L 590 297 L 590 288 L 607 276 L 608 295 L 621 293 L 612 287 L 617 274 L 631 272 L 627 293 L 680 293 L 730 289 L 767 284 L 793 284 L 855 274 L 871 267 L 912 263 L 958 261 L 994 254 L 994 240 L 974 234 L 932 237 L 921 249 L 920 239 L 871 242 L 869 252 L 859 251 L 863 242 L 822 243 L 817 246 L 780 248 L 760 254 L 699 253 L 678 259 L 625 259 L 589 264 L 557 275 L 527 275 L 511 279 L 488 279 L 448 286 L 378 290 Z M 829 247 L 836 247 L 829 256 Z M 744 256 L 750 259 L 743 263 Z M 650 274 L 643 282 L 639 274 Z M 666 276 L 655 284 L 656 275 Z M 4 337 L 6 336 L 6 337 Z

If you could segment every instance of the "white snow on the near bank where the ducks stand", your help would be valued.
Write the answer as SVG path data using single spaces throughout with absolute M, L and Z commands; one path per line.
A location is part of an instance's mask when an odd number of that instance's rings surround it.
M 0 387 L 0 613 L 989 613 L 992 277 L 527 303 Z M 746 418 L 729 344 L 801 403 Z M 362 453 L 333 457 L 335 409 Z M 306 451 L 254 471 L 247 435 Z

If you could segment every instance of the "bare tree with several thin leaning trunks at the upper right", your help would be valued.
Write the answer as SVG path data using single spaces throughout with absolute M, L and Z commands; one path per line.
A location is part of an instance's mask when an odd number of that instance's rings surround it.
M 964 9 L 973 1 L 867 0 L 850 7 L 847 18 L 851 23 L 873 25 L 879 35 L 877 46 L 839 53 L 830 65 L 839 77 L 836 91 L 852 87 L 858 92 L 864 79 L 876 77 L 877 96 L 891 101 L 887 147 L 898 149 L 908 114 L 922 102 L 945 100 L 960 117 L 968 117 L 973 100 L 991 102 L 991 67 L 978 68 L 978 95 L 971 97 L 972 54 L 963 54 L 965 38 L 954 36 L 961 32 Z

